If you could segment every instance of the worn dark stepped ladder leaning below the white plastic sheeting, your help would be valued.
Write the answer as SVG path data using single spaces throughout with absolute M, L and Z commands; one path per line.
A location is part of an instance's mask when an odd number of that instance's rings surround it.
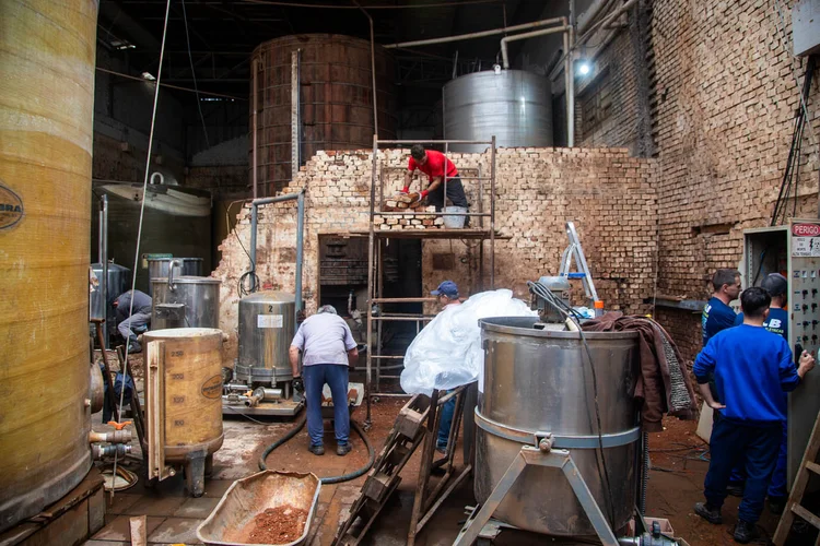
M 367 474 L 367 479 L 362 486 L 359 497 L 350 508 L 350 515 L 339 527 L 332 543 L 333 546 L 356 546 L 361 544 L 373 522 L 401 483 L 401 470 L 421 446 L 421 466 L 407 538 L 408 545 L 414 544 L 415 536 L 435 511 L 472 472 L 472 464 L 467 463 L 456 474 L 455 447 L 458 442 L 465 402 L 469 397 L 469 391 L 476 389 L 476 383 L 471 383 L 449 392 L 433 391 L 432 397 L 417 394 L 405 404 L 396 417 L 393 429 L 387 436 L 373 468 Z M 440 410 L 453 399 L 456 401 L 456 407 L 453 413 L 447 452 L 443 458 L 435 460 Z M 472 456 L 473 454 L 470 453 L 468 461 L 471 462 Z M 430 478 L 434 473 L 442 472 L 437 471 L 438 468 L 443 468 L 444 475 L 431 489 Z

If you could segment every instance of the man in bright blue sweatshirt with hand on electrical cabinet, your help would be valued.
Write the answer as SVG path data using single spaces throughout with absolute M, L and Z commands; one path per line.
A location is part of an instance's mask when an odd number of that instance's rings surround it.
M 721 416 L 710 439 L 712 459 L 703 491 L 706 502 L 696 503 L 694 512 L 710 523 L 723 522 L 721 507 L 731 468 L 746 456 L 746 489 L 734 532 L 740 544 L 754 537 L 754 525 L 777 464 L 786 418 L 783 393 L 797 388 L 815 367 L 815 358 L 807 352 L 795 367 L 788 343 L 763 328 L 771 301 L 761 287 L 745 290 L 740 298 L 743 323 L 711 337 L 693 369 L 701 395 Z M 715 401 L 707 387 L 711 372 L 723 404 Z

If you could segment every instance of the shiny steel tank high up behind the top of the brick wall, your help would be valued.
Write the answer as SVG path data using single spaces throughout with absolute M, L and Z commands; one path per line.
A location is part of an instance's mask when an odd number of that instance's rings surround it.
M 548 78 L 522 70 L 475 72 L 444 86 L 444 132 L 449 140 L 497 146 L 552 145 L 552 90 Z M 453 144 L 452 152 L 483 152 L 485 144 Z

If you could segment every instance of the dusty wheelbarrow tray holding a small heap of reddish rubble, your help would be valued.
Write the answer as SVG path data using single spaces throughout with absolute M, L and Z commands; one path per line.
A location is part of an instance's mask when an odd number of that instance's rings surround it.
M 249 543 L 254 519 L 269 508 L 290 505 L 305 510 L 307 520 L 302 535 L 290 543 L 267 546 L 295 546 L 304 544 L 316 514 L 321 483 L 315 474 L 263 471 L 236 480 L 220 500 L 216 508 L 197 527 L 197 538 L 210 545 L 243 546 Z M 266 545 L 262 545 L 266 546 Z

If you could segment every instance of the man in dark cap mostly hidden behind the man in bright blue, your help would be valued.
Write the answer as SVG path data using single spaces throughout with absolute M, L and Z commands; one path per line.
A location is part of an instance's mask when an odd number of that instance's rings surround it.
M 766 275 L 762 283 L 761 288 L 766 290 L 772 296 L 772 304 L 769 306 L 769 317 L 763 322 L 763 328 L 770 332 L 783 336 L 788 343 L 788 281 L 785 276 L 780 273 L 771 273 Z M 743 313 L 737 316 L 735 319 L 735 325 L 743 323 Z M 783 394 L 786 396 L 786 394 Z M 783 438 L 781 439 L 781 450 L 777 455 L 777 466 L 774 468 L 772 474 L 772 482 L 769 484 L 769 508 L 774 513 L 781 513 L 783 507 L 786 503 L 786 444 L 788 430 L 786 428 L 786 422 L 783 422 Z M 731 471 L 731 479 L 729 480 L 728 490 L 731 495 L 738 497 L 743 496 L 743 482 L 746 480 L 746 474 L 743 473 L 745 462 L 736 465 Z

